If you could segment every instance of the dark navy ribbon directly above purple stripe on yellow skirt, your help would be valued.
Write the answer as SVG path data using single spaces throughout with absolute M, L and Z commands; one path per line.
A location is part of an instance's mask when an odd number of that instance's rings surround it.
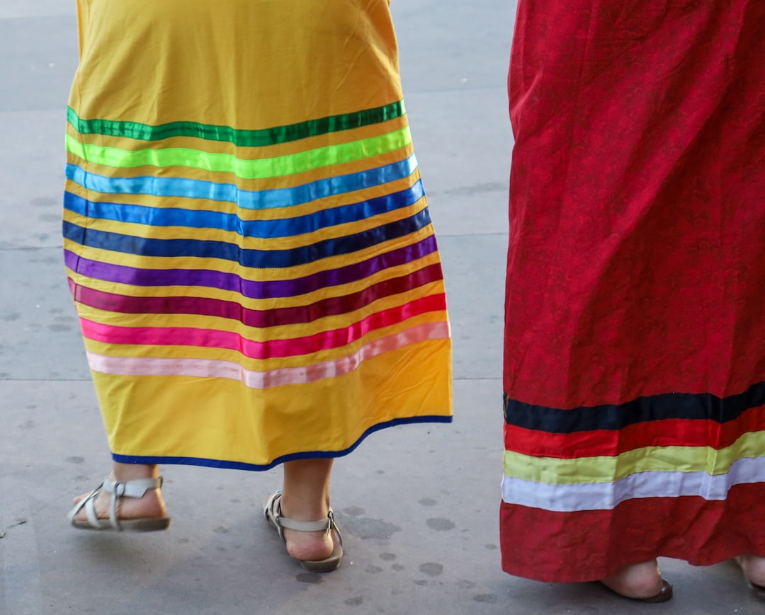
M 125 254 L 137 254 L 148 257 L 197 257 L 222 258 L 235 261 L 243 267 L 295 267 L 319 261 L 322 258 L 351 254 L 364 250 L 384 241 L 404 237 L 430 224 L 428 210 L 423 209 L 415 215 L 396 222 L 389 222 L 368 231 L 346 235 L 336 239 L 325 239 L 315 244 L 291 248 L 288 250 L 253 250 L 241 248 L 238 244 L 226 241 L 208 241 L 203 239 L 147 239 L 122 235 L 108 231 L 96 231 L 63 223 L 63 236 L 78 244 L 90 248 L 99 248 Z

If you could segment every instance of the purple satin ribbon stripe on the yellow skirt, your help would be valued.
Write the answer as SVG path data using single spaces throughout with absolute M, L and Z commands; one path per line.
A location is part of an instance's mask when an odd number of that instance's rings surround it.
M 244 280 L 236 274 L 223 274 L 210 269 L 137 269 L 90 261 L 68 250 L 64 251 L 64 262 L 77 274 L 96 280 L 131 286 L 207 286 L 233 290 L 251 299 L 269 299 L 302 295 L 327 286 L 340 286 L 340 284 L 363 280 L 378 271 L 416 261 L 437 249 L 435 236 L 431 235 L 416 244 L 380 254 L 361 263 L 320 271 L 310 276 L 295 278 L 295 280 L 269 282 L 253 282 Z

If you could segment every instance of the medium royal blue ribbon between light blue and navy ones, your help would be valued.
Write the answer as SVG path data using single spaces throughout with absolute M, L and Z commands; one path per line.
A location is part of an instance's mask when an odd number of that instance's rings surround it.
M 422 199 L 425 190 L 422 180 L 409 189 L 376 199 L 369 199 L 324 209 L 321 212 L 278 220 L 243 220 L 236 214 L 194 211 L 176 207 L 158 208 L 141 205 L 123 205 L 112 202 L 93 202 L 72 193 L 64 193 L 63 206 L 71 212 L 102 220 L 133 222 L 150 226 L 184 226 L 190 228 L 220 228 L 239 233 L 243 237 L 261 239 L 291 237 L 318 231 L 321 228 L 359 222 L 375 215 L 409 207 Z

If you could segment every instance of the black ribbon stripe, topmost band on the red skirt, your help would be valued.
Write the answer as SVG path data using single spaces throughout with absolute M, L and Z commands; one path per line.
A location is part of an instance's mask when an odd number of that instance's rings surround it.
M 665 419 L 732 421 L 746 410 L 765 405 L 765 382 L 744 393 L 717 397 L 711 393 L 662 393 L 621 404 L 582 406 L 570 410 L 535 406 L 504 396 L 509 425 L 550 433 L 618 430 L 639 422 Z

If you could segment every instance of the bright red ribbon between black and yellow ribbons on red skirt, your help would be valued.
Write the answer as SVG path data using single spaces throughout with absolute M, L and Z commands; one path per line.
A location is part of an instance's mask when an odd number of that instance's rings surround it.
M 701 419 L 639 422 L 620 430 L 549 433 L 505 425 L 505 448 L 533 455 L 574 459 L 615 456 L 646 446 L 730 446 L 747 432 L 765 431 L 765 406 L 750 408 L 737 419 L 719 423 Z

